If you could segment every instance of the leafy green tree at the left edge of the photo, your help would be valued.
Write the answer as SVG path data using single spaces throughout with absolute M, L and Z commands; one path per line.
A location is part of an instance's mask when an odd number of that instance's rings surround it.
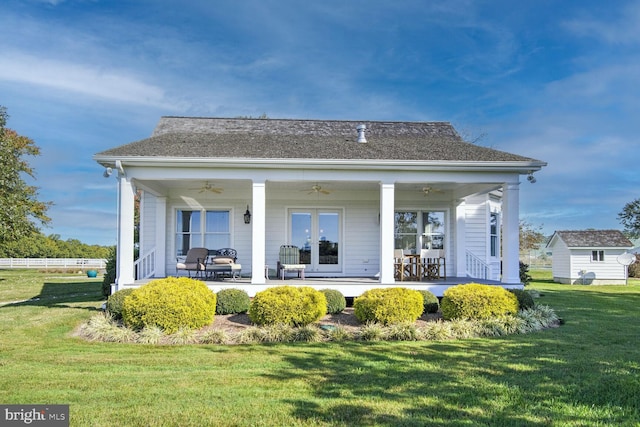
M 40 155 L 33 140 L 5 127 L 7 111 L 0 107 L 0 244 L 38 232 L 38 225 L 51 220 L 51 202 L 38 200 L 38 188 L 27 185 L 23 176 L 35 178 L 25 156 Z

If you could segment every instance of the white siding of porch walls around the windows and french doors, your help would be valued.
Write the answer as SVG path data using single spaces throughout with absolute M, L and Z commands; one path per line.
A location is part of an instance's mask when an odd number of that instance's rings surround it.
M 342 271 L 330 276 L 374 276 L 380 271 L 380 224 L 379 193 L 377 191 L 342 192 L 316 200 L 296 199 L 296 195 L 287 192 L 269 191 L 267 185 L 267 203 L 265 224 L 265 262 L 271 270 L 275 269 L 280 245 L 288 244 L 288 212 L 293 208 L 339 209 L 342 216 Z M 231 247 L 238 251 L 238 262 L 242 264 L 242 274 L 251 274 L 251 232 L 252 225 L 244 224 L 243 215 L 247 201 L 251 200 L 249 191 L 227 191 L 223 194 L 205 195 L 195 201 L 180 194 L 167 198 L 166 211 L 166 255 L 164 258 L 167 275 L 176 274 L 175 222 L 178 209 L 230 209 Z M 446 265 L 447 275 L 455 275 L 455 205 L 445 200 L 416 199 L 414 194 L 396 195 L 397 210 L 444 211 L 446 217 Z M 155 246 L 154 234 L 156 203 L 151 195 L 144 196 L 142 204 L 141 247 L 145 251 Z M 250 207 L 251 209 L 251 207 Z M 467 200 L 466 210 L 466 246 L 482 259 L 488 257 L 488 212 L 487 196 Z M 253 222 L 253 221 L 252 221 Z M 210 248 L 218 249 L 218 248 Z M 160 255 L 161 256 L 161 255 Z M 391 262 L 391 260 L 389 260 Z M 489 264 L 489 262 L 488 262 Z M 309 272 L 310 276 L 313 275 Z M 495 271 L 494 271 L 495 274 Z

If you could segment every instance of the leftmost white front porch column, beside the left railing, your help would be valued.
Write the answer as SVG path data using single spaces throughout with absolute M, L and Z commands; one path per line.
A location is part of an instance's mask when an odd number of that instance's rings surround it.
M 118 238 L 116 248 L 116 290 L 135 281 L 133 273 L 133 228 L 134 228 L 133 183 L 124 173 L 118 173 Z

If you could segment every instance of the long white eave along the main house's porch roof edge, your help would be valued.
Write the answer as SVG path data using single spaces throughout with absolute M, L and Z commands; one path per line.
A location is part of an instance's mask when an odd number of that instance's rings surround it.
M 531 173 L 539 171 L 546 166 L 546 162 L 541 161 L 451 161 L 451 160 L 353 160 L 353 159 L 257 159 L 257 158 L 202 158 L 202 157 L 116 157 L 96 155 L 93 160 L 104 167 L 114 167 L 116 161 L 120 161 L 122 166 L 135 167 L 202 167 L 216 166 L 225 168 L 291 168 L 296 169 L 316 168 L 316 169 L 358 169 L 358 170 L 449 170 L 449 171 L 502 171 Z

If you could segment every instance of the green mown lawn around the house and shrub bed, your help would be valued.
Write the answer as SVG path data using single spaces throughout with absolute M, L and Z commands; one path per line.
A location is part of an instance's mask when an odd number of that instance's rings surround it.
M 637 426 L 640 281 L 530 288 L 563 318 L 460 341 L 154 346 L 72 335 L 100 279 L 0 270 L 0 403 L 73 426 Z M 35 297 L 35 298 L 34 298 Z

